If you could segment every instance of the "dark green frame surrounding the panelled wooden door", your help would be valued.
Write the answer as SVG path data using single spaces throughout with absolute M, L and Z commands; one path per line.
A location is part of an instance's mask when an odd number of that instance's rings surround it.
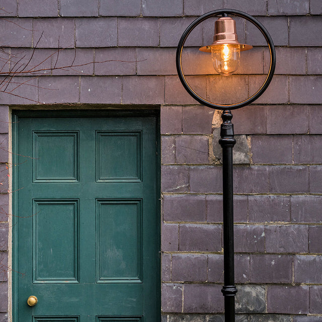
M 37 108 L 37 107 L 36 107 Z M 56 106 L 53 108 L 57 108 Z M 10 128 L 9 137 L 11 137 L 10 143 L 11 147 L 9 148 L 12 153 L 9 156 L 9 163 L 12 164 L 12 167 L 9 167 L 9 176 L 11 178 L 9 183 L 9 189 L 12 191 L 10 194 L 9 201 L 9 212 L 11 214 L 17 213 L 17 205 L 18 205 L 18 197 L 15 195 L 15 191 L 21 189 L 18 187 L 18 151 L 17 151 L 17 142 L 18 142 L 18 123 L 19 117 L 148 117 L 154 116 L 156 119 L 156 173 L 155 173 L 155 188 L 156 188 L 156 196 L 159 196 L 158 199 L 155 200 L 155 208 L 156 208 L 156 225 L 157 225 L 157 252 L 155 254 L 157 261 L 157 272 L 156 272 L 156 285 L 158 288 L 158 292 L 156 294 L 156 311 L 159 312 L 158 318 L 161 320 L 161 260 L 160 260 L 160 244 L 161 244 L 161 234 L 160 234 L 160 223 L 161 223 L 161 206 L 160 206 L 160 109 L 159 106 L 152 106 L 151 108 L 147 108 L 146 106 L 138 106 L 135 109 L 111 109 L 111 107 L 107 107 L 105 109 L 86 109 L 86 110 L 26 110 L 12 108 L 10 110 L 10 122 L 12 122 L 12 126 Z M 22 272 L 18 271 L 18 243 L 17 243 L 17 215 L 11 216 L 11 222 L 9 222 L 10 231 L 9 231 L 9 259 L 8 266 L 9 269 L 9 290 L 8 290 L 8 318 L 9 321 L 18 322 L 17 317 L 17 305 L 18 305 L 18 278 L 21 276 Z M 10 288 L 11 285 L 11 288 Z M 159 322 L 156 321 L 156 322 Z M 30 321 L 32 322 L 32 321 Z

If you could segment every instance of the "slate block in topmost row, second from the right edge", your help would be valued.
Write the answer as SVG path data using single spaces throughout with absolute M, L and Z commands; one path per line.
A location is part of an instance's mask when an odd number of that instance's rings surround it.
M 268 0 L 269 15 L 306 15 L 309 13 L 309 0 L 292 1 L 292 0 Z

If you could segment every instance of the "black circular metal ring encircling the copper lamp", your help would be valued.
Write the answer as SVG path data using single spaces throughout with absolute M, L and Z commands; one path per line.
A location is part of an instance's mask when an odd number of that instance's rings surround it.
M 244 101 L 241 101 L 241 102 L 235 103 L 235 104 L 215 104 L 215 103 L 212 103 L 210 101 L 203 99 L 191 88 L 191 86 L 188 84 L 187 79 L 182 71 L 182 50 L 183 50 L 183 46 L 184 46 L 189 34 L 192 32 L 192 30 L 196 26 L 198 26 L 204 20 L 211 18 L 211 17 L 223 16 L 223 15 L 233 15 L 233 16 L 241 17 L 241 18 L 244 18 L 244 19 L 250 21 L 251 23 L 253 23 L 264 35 L 266 42 L 268 44 L 269 50 L 270 50 L 270 58 L 271 58 L 270 68 L 269 68 L 269 72 L 267 74 L 267 77 L 265 79 L 265 82 L 260 87 L 260 89 L 255 94 L 253 94 L 251 97 L 249 97 L 247 100 L 244 100 Z M 240 107 L 246 106 L 246 105 L 254 102 L 255 100 L 257 100 L 265 92 L 265 90 L 268 88 L 269 84 L 271 83 L 271 80 L 272 80 L 273 74 L 274 74 L 274 70 L 275 70 L 275 63 L 276 63 L 275 47 L 273 44 L 273 40 L 272 40 L 270 34 L 268 33 L 268 31 L 265 29 L 265 27 L 259 21 L 257 21 L 254 17 L 250 16 L 249 14 L 246 14 L 246 13 L 238 11 L 238 10 L 233 10 L 233 9 L 214 10 L 214 11 L 208 12 L 207 14 L 200 16 L 195 21 L 193 21 L 189 25 L 189 27 L 184 31 L 184 33 L 182 34 L 179 44 L 178 44 L 178 47 L 177 47 L 177 54 L 176 54 L 176 64 L 177 64 L 178 75 L 179 75 L 180 81 L 181 81 L 182 85 L 184 86 L 184 88 L 186 89 L 186 91 L 199 103 L 201 103 L 205 106 L 211 107 L 213 109 L 219 109 L 219 110 L 238 109 Z

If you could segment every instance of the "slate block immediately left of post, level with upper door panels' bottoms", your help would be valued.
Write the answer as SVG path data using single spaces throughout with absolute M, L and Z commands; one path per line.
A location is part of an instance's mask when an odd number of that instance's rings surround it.
M 218 166 L 189 167 L 190 192 L 220 193 L 222 192 L 222 169 Z

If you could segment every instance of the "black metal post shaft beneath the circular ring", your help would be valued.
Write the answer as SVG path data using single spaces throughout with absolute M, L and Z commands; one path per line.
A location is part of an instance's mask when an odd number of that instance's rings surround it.
M 223 192 L 223 249 L 224 285 L 221 292 L 225 301 L 225 322 L 235 321 L 234 246 L 233 246 L 233 186 L 232 148 L 236 143 L 231 123 L 230 110 L 224 110 L 220 128 L 219 144 L 222 147 L 222 192 Z

